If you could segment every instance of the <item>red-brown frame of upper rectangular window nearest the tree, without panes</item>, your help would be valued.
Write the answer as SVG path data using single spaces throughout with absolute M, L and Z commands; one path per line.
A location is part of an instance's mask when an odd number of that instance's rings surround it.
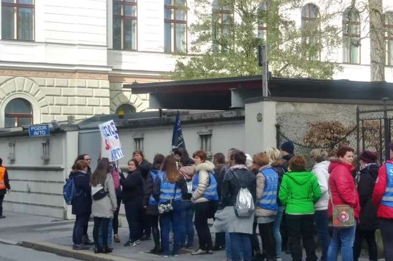
M 178 53 L 177 51 L 177 45 L 176 45 L 176 25 L 180 24 L 180 25 L 186 25 L 186 50 L 185 53 L 188 53 L 188 9 L 187 9 L 187 0 L 184 0 L 185 5 L 184 6 L 180 6 L 180 5 L 176 5 L 176 0 L 171 0 L 173 1 L 174 4 L 166 4 L 164 1 L 164 52 L 165 53 Z M 183 10 L 186 12 L 186 20 L 177 20 L 177 19 L 166 19 L 165 18 L 165 11 L 169 9 L 171 12 L 173 10 L 173 18 L 176 18 L 176 10 Z M 173 24 L 173 39 L 172 39 L 172 35 L 170 36 L 170 42 L 173 45 L 173 52 L 172 52 L 172 48 L 170 48 L 170 51 L 167 51 L 165 48 L 165 24 Z M 172 28 L 171 28 L 172 30 Z M 182 52 L 182 51 L 181 51 Z

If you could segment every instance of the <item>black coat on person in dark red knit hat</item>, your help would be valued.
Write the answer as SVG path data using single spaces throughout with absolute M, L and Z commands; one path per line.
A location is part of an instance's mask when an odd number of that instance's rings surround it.
M 360 171 L 358 184 L 359 203 L 360 203 L 360 224 L 363 230 L 376 229 L 377 207 L 372 203 L 372 193 L 378 178 L 379 167 L 376 164 L 369 165 Z

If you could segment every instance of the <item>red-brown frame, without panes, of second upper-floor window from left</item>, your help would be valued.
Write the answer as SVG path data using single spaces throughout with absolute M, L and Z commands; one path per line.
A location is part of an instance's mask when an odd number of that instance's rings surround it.
M 115 3 L 117 3 L 117 4 L 120 4 L 120 12 L 121 13 L 123 13 L 123 15 L 115 15 L 114 14 L 114 8 L 112 7 L 112 49 L 113 50 L 121 50 L 121 51 L 138 51 L 138 0 L 135 0 L 135 2 L 127 2 L 127 1 L 125 1 L 125 0 L 112 0 L 112 6 L 114 6 L 114 4 Z M 136 13 L 136 15 L 135 16 L 128 16 L 128 15 L 124 15 L 124 8 L 125 8 L 125 6 L 126 5 L 131 5 L 131 6 L 136 6 L 136 11 L 135 11 L 135 13 Z M 114 48 L 114 44 L 113 44 L 113 40 L 114 40 L 114 37 L 113 37 L 113 34 L 114 34 L 114 30 L 113 30 L 113 24 L 114 24 L 114 20 L 115 19 L 120 19 L 120 21 L 121 21 L 121 27 L 123 27 L 123 28 L 120 28 L 120 31 L 121 31 L 121 34 L 120 34 L 120 49 L 115 49 Z M 124 48 L 124 46 L 125 46 L 125 37 L 124 37 L 124 35 L 125 35 L 125 26 L 123 25 L 124 24 L 124 20 L 133 20 L 133 21 L 135 21 L 135 29 L 136 29 L 136 33 L 135 33 L 135 49 L 126 49 L 126 48 Z

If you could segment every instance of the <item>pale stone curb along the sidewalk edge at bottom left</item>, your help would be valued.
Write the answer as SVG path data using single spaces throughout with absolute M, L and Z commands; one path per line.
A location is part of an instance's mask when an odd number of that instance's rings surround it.
M 31 248 L 38 251 L 54 253 L 57 255 L 75 258 L 84 261 L 136 261 L 132 259 L 117 257 L 108 254 L 94 254 L 91 250 L 73 250 L 69 246 L 62 246 L 48 242 L 28 242 L 20 243 L 23 247 Z

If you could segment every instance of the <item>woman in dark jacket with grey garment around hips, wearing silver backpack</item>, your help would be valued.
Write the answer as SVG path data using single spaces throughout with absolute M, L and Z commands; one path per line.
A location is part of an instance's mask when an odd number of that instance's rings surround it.
M 212 230 L 229 233 L 232 261 L 250 261 L 252 258 L 250 235 L 253 234 L 254 213 L 252 211 L 250 216 L 238 217 L 234 206 L 241 188 L 247 188 L 252 195 L 252 200 L 255 201 L 255 175 L 245 165 L 244 152 L 235 151 L 230 159 L 233 165 L 222 183 L 219 211 Z

